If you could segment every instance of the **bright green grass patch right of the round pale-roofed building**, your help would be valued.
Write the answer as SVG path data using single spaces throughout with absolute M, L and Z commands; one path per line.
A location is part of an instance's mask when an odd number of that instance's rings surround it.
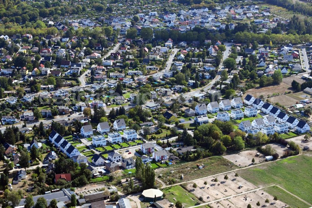
M 162 190 L 166 194 L 169 201 L 175 203 L 181 201 L 184 207 L 195 206 L 199 201 L 193 193 L 189 193 L 181 186 L 172 186 Z M 174 199 L 176 200 L 174 200 Z

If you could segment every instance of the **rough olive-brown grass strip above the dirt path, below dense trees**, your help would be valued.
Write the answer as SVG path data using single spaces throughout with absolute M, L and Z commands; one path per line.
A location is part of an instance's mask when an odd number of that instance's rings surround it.
M 196 166 L 197 163 L 204 164 L 205 168 L 198 169 Z M 171 165 L 160 172 L 163 174 L 161 180 L 167 183 L 173 178 L 175 179 L 175 183 L 178 183 L 202 178 L 205 176 L 211 176 L 217 173 L 222 173 L 238 168 L 238 166 L 235 165 L 231 167 L 229 164 L 231 164 L 231 162 L 221 156 L 212 156 L 198 160 L 196 163 L 187 162 L 178 165 Z M 174 173 L 171 173 L 170 171 L 174 171 Z M 184 176 L 183 180 L 181 180 L 181 174 Z

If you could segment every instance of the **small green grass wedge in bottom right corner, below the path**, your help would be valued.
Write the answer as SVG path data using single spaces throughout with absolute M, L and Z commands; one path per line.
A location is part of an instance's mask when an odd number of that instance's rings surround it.
M 290 195 L 289 193 L 280 189 L 277 186 L 271 186 L 271 187 L 265 188 L 264 191 L 266 191 L 268 194 L 271 194 L 272 196 L 277 196 L 277 198 L 280 201 L 285 202 L 285 204 L 291 207 L 300 207 L 300 208 L 310 207 L 303 201 L 300 201 L 295 196 Z

